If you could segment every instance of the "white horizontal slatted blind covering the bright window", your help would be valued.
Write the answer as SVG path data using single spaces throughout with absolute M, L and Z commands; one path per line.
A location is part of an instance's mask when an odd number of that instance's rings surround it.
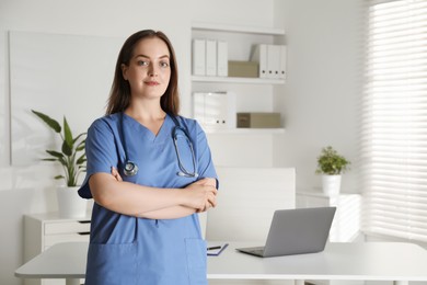
M 363 230 L 427 242 L 427 0 L 367 12 Z

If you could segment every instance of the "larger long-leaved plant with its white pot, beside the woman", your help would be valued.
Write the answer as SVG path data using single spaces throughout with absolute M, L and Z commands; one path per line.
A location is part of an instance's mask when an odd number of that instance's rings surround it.
M 85 172 L 85 133 L 73 137 L 65 116 L 62 127 L 48 115 L 34 110 L 32 112 L 57 133 L 62 141 L 60 150 L 47 149 L 46 152 L 50 157 L 43 159 L 44 161 L 59 162 L 64 169 L 64 174 L 55 176 L 56 180 L 65 180 L 66 182 L 66 185 L 57 187 L 59 215 L 64 218 L 84 217 L 88 202 L 78 195 L 77 190 L 79 189 L 79 175 Z

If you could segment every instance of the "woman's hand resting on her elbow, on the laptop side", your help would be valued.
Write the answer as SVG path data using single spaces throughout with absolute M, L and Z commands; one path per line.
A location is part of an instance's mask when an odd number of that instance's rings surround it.
M 185 206 L 195 208 L 197 212 L 206 212 L 217 206 L 217 189 L 215 179 L 201 179 L 184 190 L 187 196 Z

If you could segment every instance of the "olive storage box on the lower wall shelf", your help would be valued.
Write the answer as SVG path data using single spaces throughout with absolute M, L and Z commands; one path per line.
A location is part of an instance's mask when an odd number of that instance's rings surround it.
M 238 127 L 279 128 L 280 113 L 238 113 Z

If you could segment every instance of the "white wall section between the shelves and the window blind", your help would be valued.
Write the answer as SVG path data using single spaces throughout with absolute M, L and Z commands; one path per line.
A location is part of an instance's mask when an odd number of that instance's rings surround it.
M 286 135 L 275 141 L 275 153 L 280 153 L 275 163 L 297 168 L 297 190 L 320 186 L 316 157 L 322 147 L 332 145 L 353 162 L 343 178 L 343 191 L 359 192 L 361 2 L 276 1 L 276 20 L 286 27 L 288 79 L 278 99 Z

